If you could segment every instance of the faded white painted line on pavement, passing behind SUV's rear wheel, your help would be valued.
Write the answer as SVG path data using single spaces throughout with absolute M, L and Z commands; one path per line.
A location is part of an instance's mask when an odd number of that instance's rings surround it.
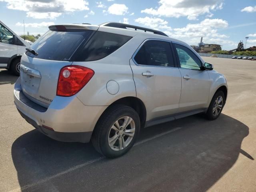
M 148 138 L 148 139 L 144 139 L 144 140 L 142 140 L 142 141 L 140 141 L 140 142 L 135 143 L 134 146 L 143 144 L 143 143 L 145 143 L 145 142 L 148 142 L 148 141 L 150 141 L 150 140 L 156 139 L 156 138 L 158 138 L 158 137 L 161 137 L 161 136 L 163 136 L 163 135 L 169 134 L 169 133 L 171 133 L 171 132 L 177 131 L 177 130 L 179 130 L 179 129 L 181 129 L 181 127 L 173 128 L 172 130 L 166 131 L 166 132 L 164 132 L 164 133 L 157 134 L 157 135 L 155 135 L 154 137 L 151 137 L 151 138 Z M 60 172 L 60 173 L 55 174 L 55 175 L 53 175 L 53 176 L 44 178 L 44 179 L 42 179 L 42 180 L 39 180 L 38 182 L 35 182 L 35 183 L 32 183 L 32 184 L 28 184 L 28 185 L 22 186 L 22 187 L 20 187 L 20 188 L 11 190 L 11 191 L 9 191 L 9 192 L 20 192 L 20 191 L 22 191 L 22 190 L 26 190 L 26 189 L 28 189 L 28 188 L 31 188 L 31 187 L 33 187 L 33 186 L 42 184 L 42 183 L 47 182 L 47 181 L 49 181 L 49 180 L 51 180 L 51 179 L 53 179 L 53 178 L 56 178 L 56 177 L 58 177 L 58 176 L 62 176 L 62 175 L 64 175 L 64 174 L 66 174 L 66 173 L 72 172 L 72 171 L 74 171 L 74 170 L 77 170 L 77 169 L 82 168 L 82 167 L 84 167 L 84 166 L 87 166 L 87 165 L 89 165 L 89 164 L 95 163 L 95 162 L 97 162 L 97 161 L 99 161 L 99 160 L 102 160 L 102 159 L 105 159 L 105 157 L 100 157 L 100 158 L 97 158 L 97 159 L 94 159 L 94 160 L 85 162 L 85 163 L 83 163 L 83 164 L 74 166 L 74 167 L 72 167 L 72 168 L 69 168 L 69 169 L 66 170 L 66 171 L 63 171 L 63 172 Z

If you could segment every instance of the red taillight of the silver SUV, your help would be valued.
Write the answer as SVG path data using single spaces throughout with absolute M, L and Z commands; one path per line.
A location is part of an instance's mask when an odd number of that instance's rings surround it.
M 94 71 L 77 65 L 65 66 L 60 70 L 57 95 L 69 97 L 80 91 L 92 78 Z

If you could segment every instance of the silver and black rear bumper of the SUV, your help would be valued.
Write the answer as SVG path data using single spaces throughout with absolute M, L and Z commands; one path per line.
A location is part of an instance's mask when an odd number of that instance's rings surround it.
M 14 86 L 14 103 L 21 116 L 32 126 L 55 140 L 90 141 L 96 122 L 107 106 L 85 106 L 76 96 L 56 96 L 50 106 L 44 108 L 23 94 L 19 80 Z

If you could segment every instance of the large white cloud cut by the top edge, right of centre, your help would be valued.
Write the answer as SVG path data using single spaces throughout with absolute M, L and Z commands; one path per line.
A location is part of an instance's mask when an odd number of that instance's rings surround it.
M 202 14 L 211 14 L 210 10 L 222 9 L 223 0 L 160 0 L 158 8 L 146 8 L 142 13 L 154 16 L 176 17 L 186 16 L 196 20 Z

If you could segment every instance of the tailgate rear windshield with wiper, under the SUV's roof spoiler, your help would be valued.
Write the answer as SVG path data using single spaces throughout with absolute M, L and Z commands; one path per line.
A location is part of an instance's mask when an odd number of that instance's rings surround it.
M 46 60 L 68 61 L 78 46 L 88 40 L 91 34 L 92 30 L 49 30 L 31 46 L 38 55 L 34 56 L 30 52 L 26 52 L 26 55 Z

